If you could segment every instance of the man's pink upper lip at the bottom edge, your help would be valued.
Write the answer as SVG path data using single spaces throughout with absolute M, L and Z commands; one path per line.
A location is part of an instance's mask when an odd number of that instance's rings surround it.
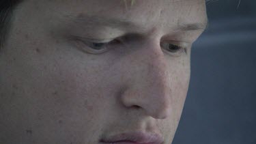
M 154 132 L 124 132 L 116 134 L 114 136 L 109 136 L 105 139 L 100 140 L 103 143 L 115 143 L 121 141 L 130 141 L 133 143 L 150 143 L 150 144 L 160 144 L 164 141 L 160 134 Z

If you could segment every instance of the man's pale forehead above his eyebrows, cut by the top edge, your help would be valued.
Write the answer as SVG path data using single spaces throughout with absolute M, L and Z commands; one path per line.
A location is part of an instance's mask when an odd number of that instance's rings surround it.
M 55 0 L 32 1 L 35 11 L 55 18 L 126 19 L 143 27 L 178 25 L 178 23 L 206 23 L 205 0 Z M 47 12 L 46 12 L 47 11 Z

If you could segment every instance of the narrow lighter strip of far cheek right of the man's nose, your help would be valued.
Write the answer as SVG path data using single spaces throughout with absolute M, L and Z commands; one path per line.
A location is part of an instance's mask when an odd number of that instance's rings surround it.
M 189 54 L 189 51 L 188 51 Z M 180 121 L 186 94 L 188 90 L 188 83 L 190 79 L 190 57 L 182 59 L 169 59 L 169 74 L 171 83 L 171 115 L 168 119 L 162 121 L 162 130 L 166 137 L 172 138 Z M 171 121 L 171 122 L 170 122 Z M 171 143 L 171 142 L 170 142 Z

